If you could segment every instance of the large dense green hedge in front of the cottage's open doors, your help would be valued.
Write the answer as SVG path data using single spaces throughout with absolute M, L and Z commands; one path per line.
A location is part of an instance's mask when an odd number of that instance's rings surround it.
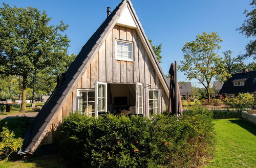
M 212 155 L 214 137 L 212 113 L 197 107 L 180 118 L 71 114 L 56 142 L 64 157 L 85 167 L 191 167 Z

